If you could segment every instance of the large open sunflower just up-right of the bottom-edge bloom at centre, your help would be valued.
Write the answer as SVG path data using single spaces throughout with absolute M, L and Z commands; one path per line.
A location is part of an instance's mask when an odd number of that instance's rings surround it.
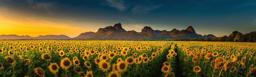
M 127 67 L 128 67 L 128 63 L 126 63 L 125 61 L 117 62 L 118 72 L 123 73 L 124 71 L 127 70 Z

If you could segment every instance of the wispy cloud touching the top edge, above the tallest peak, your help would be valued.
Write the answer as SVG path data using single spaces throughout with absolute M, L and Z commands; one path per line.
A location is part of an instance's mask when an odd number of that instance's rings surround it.
M 106 1 L 106 3 L 104 3 L 102 5 L 114 7 L 120 11 L 123 11 L 126 8 L 123 0 L 105 0 L 105 1 Z

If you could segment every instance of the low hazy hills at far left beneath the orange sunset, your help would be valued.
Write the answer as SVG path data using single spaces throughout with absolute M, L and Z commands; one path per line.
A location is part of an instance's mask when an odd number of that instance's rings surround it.
M 45 35 L 45 36 L 38 36 L 38 37 L 30 37 L 28 35 L 24 36 L 18 36 L 18 35 L 0 35 L 0 40 L 15 40 L 15 39 L 62 39 L 62 40 L 67 40 L 67 39 L 71 39 L 70 37 L 66 36 L 66 35 Z

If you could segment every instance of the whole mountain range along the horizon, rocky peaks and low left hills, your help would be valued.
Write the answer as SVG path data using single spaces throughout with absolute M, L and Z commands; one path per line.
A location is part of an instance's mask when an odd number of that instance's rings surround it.
M 180 38 L 214 38 L 212 34 L 200 35 L 197 34 L 192 26 L 189 26 L 185 30 L 160 31 L 153 30 L 151 27 L 145 26 L 141 32 L 126 31 L 122 28 L 121 24 L 115 24 L 114 26 L 107 26 L 106 28 L 99 28 L 97 32 L 85 32 L 79 36 L 70 38 L 66 35 L 45 35 L 38 37 L 18 36 L 18 35 L 0 35 L 0 39 L 71 39 L 71 40 L 170 40 Z

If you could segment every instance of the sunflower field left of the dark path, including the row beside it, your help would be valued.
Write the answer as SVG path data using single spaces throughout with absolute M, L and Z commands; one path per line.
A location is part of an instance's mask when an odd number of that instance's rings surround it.
M 168 41 L 1 40 L 0 76 L 144 77 L 172 74 Z M 171 56 L 168 56 L 169 58 Z M 169 65 L 166 65 L 169 64 Z M 168 66 L 168 69 L 162 69 Z

